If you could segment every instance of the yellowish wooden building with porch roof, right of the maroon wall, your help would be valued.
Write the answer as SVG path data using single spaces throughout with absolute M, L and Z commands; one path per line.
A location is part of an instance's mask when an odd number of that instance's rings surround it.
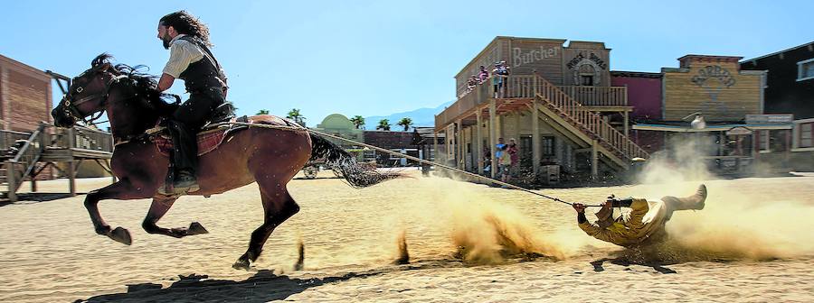
M 627 80 L 631 94 L 640 98 L 633 110 L 631 139 L 648 152 L 668 154 L 679 150 L 677 142 L 700 140 L 704 148 L 696 152 L 718 172 L 743 173 L 759 159 L 776 162 L 766 153 L 790 150 L 790 116 L 763 115 L 766 72 L 740 69 L 741 59 L 686 55 L 678 59 L 678 68 L 661 69 L 660 92 L 653 91 L 653 83 Z M 642 77 L 614 75 L 619 80 Z M 660 113 L 654 115 L 657 108 Z M 648 115 L 639 115 L 645 111 Z M 704 123 L 698 124 L 701 119 Z M 702 126 L 692 127 L 691 120 Z

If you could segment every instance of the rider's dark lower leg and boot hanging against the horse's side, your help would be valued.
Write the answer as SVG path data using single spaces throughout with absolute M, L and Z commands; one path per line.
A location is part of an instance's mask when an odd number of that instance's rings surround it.
M 197 133 L 189 130 L 185 124 L 170 120 L 167 128 L 173 137 L 173 164 L 175 167 L 175 180 L 173 192 L 185 194 L 199 189 L 195 170 L 198 167 Z

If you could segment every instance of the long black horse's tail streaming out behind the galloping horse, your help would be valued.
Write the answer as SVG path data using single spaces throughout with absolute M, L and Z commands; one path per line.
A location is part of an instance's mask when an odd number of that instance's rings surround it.
M 326 165 L 334 170 L 337 176 L 347 180 L 347 183 L 354 188 L 366 188 L 374 184 L 401 177 L 399 173 L 381 173 L 374 168 L 365 167 L 358 162 L 349 152 L 345 152 L 334 142 L 315 134 L 311 136 L 311 159 L 325 159 Z

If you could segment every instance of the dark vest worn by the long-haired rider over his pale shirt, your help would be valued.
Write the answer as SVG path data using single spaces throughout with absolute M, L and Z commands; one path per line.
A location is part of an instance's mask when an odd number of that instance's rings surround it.
M 222 89 L 226 86 L 226 76 L 221 75 L 220 72 L 221 65 L 214 59 L 212 51 L 209 51 L 204 41 L 193 36 L 184 36 L 179 39 L 189 41 L 204 50 L 204 58 L 190 63 L 189 67 L 178 76 L 178 78 L 184 79 L 186 91 L 204 92 L 211 88 Z

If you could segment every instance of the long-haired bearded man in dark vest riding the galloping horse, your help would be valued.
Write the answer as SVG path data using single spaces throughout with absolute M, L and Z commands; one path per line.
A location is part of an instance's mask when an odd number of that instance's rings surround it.
M 167 120 L 175 146 L 170 174 L 175 178 L 171 191 L 162 187 L 159 193 L 185 194 L 198 190 L 196 134 L 207 122 L 217 121 L 214 116 L 230 116 L 234 108 L 225 100 L 226 75 L 209 50 L 212 44 L 206 24 L 185 11 L 167 14 L 158 22 L 158 39 L 170 50 L 158 90 L 165 91 L 175 78 L 182 78 L 189 93 L 189 99 Z

